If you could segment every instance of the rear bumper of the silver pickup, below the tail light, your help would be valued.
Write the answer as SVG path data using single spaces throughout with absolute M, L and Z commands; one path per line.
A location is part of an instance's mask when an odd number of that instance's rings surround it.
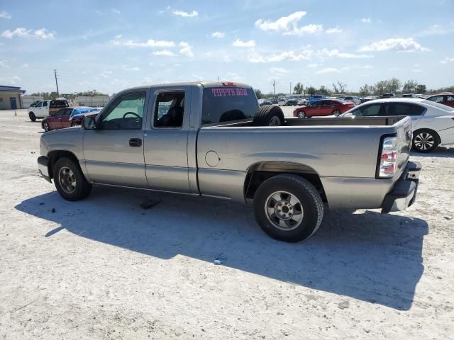
M 409 162 L 407 164 L 406 171 L 394 184 L 392 191 L 384 196 L 382 214 L 405 210 L 414 203 L 418 192 L 419 171 L 421 171 L 420 163 Z

